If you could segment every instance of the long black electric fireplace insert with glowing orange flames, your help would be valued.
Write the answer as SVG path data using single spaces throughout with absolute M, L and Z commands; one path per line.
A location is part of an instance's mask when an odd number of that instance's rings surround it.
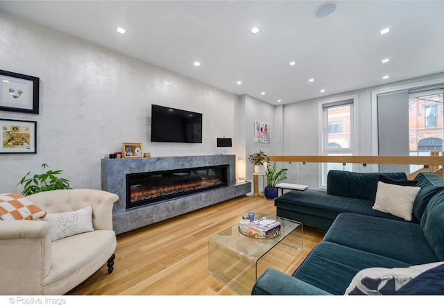
M 126 209 L 228 186 L 228 165 L 126 175 Z

